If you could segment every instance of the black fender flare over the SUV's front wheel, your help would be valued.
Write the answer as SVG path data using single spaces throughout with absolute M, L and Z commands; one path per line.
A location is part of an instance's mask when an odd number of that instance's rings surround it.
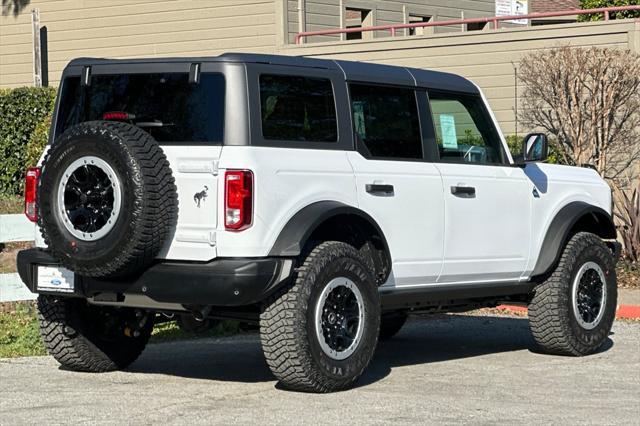
M 538 252 L 532 276 L 548 274 L 555 267 L 569 241 L 571 230 L 579 220 L 589 215 L 598 225 L 598 236 L 606 239 L 616 238 L 616 227 L 609 213 L 582 201 L 571 202 L 562 207 L 551 221 Z

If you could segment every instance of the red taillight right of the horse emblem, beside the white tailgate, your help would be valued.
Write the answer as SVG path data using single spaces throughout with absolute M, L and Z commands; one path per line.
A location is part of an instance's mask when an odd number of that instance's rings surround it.
M 227 170 L 224 175 L 224 227 L 241 231 L 251 226 L 253 215 L 253 173 Z

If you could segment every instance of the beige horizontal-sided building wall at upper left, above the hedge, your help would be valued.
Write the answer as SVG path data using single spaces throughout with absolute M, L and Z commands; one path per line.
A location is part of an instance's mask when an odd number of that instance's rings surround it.
M 0 17 L 0 87 L 33 84 L 33 8 L 48 29 L 51 85 L 80 56 L 273 52 L 276 44 L 275 0 L 32 0 L 17 18 Z

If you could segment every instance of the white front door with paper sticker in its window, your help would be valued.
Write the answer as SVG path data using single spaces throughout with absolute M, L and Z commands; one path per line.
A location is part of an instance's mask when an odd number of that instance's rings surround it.
M 480 95 L 429 92 L 445 204 L 439 282 L 517 281 L 529 257 L 531 184 L 509 164 Z

